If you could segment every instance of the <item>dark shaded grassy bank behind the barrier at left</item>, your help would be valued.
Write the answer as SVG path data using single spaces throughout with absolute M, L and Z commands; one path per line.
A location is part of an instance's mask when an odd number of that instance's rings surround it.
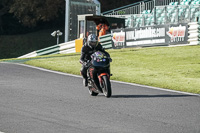
M 1 35 L 0 59 L 16 58 L 55 45 L 56 38 L 50 35 L 54 30 L 46 29 L 21 35 Z M 60 42 L 63 42 L 63 38 L 61 36 Z

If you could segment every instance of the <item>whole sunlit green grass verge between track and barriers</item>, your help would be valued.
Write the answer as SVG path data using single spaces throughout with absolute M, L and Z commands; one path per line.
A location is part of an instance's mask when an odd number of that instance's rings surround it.
M 200 94 L 200 46 L 130 48 L 108 52 L 113 59 L 112 80 Z M 45 56 L 26 64 L 79 75 L 79 58 L 80 53 Z

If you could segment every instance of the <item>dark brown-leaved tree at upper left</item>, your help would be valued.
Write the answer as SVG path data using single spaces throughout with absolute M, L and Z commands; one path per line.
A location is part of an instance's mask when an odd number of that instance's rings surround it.
M 64 0 L 14 0 L 9 12 L 23 25 L 34 27 L 39 21 L 55 19 L 64 10 Z

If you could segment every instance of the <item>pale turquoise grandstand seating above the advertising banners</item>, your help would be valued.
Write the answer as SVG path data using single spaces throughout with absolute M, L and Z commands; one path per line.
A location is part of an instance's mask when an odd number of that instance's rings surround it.
M 151 13 L 134 14 L 126 18 L 126 26 L 130 28 L 200 22 L 200 5 L 156 6 Z

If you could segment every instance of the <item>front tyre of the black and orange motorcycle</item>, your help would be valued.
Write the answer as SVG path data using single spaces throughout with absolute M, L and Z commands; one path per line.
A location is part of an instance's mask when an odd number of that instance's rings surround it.
M 102 90 L 103 90 L 104 96 L 106 96 L 107 98 L 111 97 L 112 90 L 111 90 L 111 84 L 110 84 L 110 80 L 108 79 L 108 76 L 106 75 L 102 76 L 102 82 L 103 82 Z

